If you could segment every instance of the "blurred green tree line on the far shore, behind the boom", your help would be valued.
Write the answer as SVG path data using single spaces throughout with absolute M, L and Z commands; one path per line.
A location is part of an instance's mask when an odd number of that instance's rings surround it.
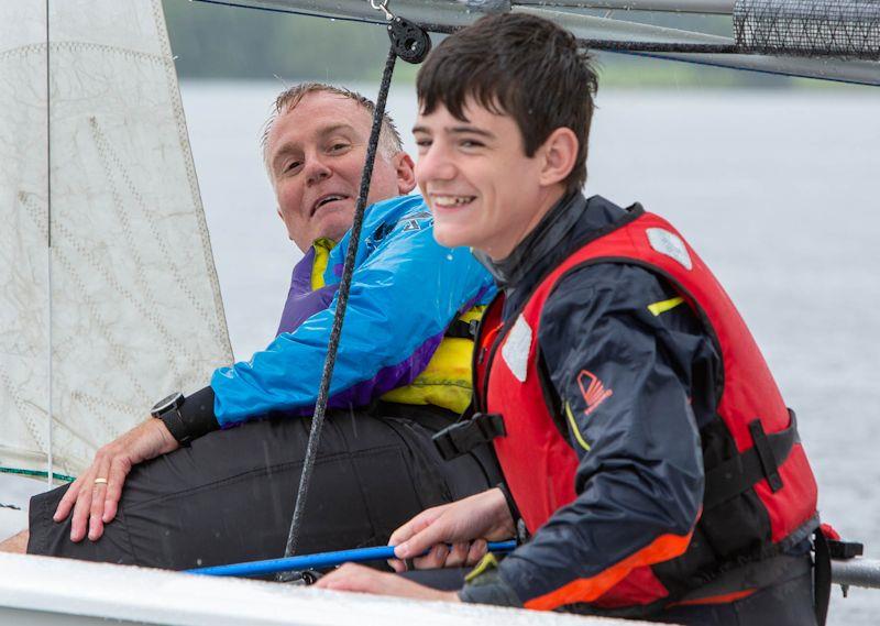
M 388 40 L 380 25 L 163 0 L 177 73 L 184 78 L 377 80 Z M 605 12 L 595 12 L 603 15 Z M 729 19 L 627 13 L 628 20 L 730 35 Z M 755 73 L 600 55 L 604 86 L 762 87 L 791 81 Z M 406 64 L 398 72 L 413 74 Z

